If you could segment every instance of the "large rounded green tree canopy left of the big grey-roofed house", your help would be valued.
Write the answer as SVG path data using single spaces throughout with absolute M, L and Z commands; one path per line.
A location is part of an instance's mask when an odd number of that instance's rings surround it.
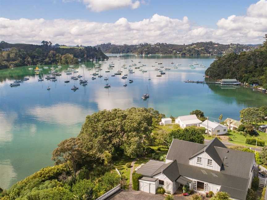
M 146 108 L 101 110 L 86 117 L 78 137 L 85 151 L 95 155 L 122 148 L 125 155 L 136 157 L 150 140 L 153 120 L 161 116 Z

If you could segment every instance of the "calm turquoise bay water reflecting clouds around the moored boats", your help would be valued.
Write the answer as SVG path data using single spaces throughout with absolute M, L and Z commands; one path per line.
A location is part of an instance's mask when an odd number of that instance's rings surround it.
M 158 58 L 158 59 L 157 59 Z M 57 82 L 38 82 L 38 76 L 28 67 L 7 69 L 0 71 L 0 187 L 8 188 L 15 182 L 34 173 L 42 167 L 53 165 L 51 153 L 57 144 L 66 138 L 78 135 L 86 115 L 98 110 L 129 107 L 153 107 L 167 117 L 170 115 L 188 115 L 194 109 L 204 111 L 212 120 L 218 120 L 220 114 L 223 118 L 239 119 L 239 110 L 248 106 L 262 106 L 267 104 L 267 96 L 253 92 L 244 87 L 222 87 L 219 85 L 203 85 L 184 83 L 183 80 L 203 80 L 206 68 L 213 62 L 214 57 L 173 57 L 173 56 L 110 56 L 109 63 L 113 61 L 115 68 L 111 73 L 105 73 L 107 64 L 102 64 L 102 78 L 91 80 L 95 71 L 92 63 L 85 63 L 87 71 L 84 74 L 88 80 L 87 86 L 79 85 L 79 81 L 70 80 L 62 72 Z M 134 62 L 131 62 L 134 60 Z M 141 60 L 141 63 L 138 61 Z M 170 67 L 162 77 L 156 77 L 159 68 L 155 61 L 163 62 L 163 66 Z M 180 63 L 178 69 L 172 68 L 171 62 Z M 194 62 L 206 65 L 202 68 L 190 69 L 189 64 Z M 127 87 L 123 87 L 121 76 L 111 77 L 112 72 L 121 70 L 128 74 Z M 137 66 L 145 64 L 142 73 L 134 69 L 129 74 L 123 69 L 123 64 L 129 69 L 129 64 Z M 155 65 L 155 67 L 151 67 Z M 49 66 L 49 65 L 47 65 Z M 42 67 L 42 66 L 41 66 Z M 67 66 L 62 65 L 62 70 Z M 83 75 L 83 68 L 76 66 Z M 134 67 L 133 67 L 134 68 Z M 49 70 L 44 70 L 40 76 L 45 77 Z M 111 88 L 105 89 L 104 77 L 108 76 Z M 10 87 L 14 79 L 29 77 L 18 87 Z M 148 78 L 151 80 L 148 80 Z M 129 83 L 133 79 L 133 83 Z M 79 90 L 70 90 L 73 85 Z M 48 91 L 47 87 L 51 90 Z M 146 93 L 150 98 L 142 100 Z

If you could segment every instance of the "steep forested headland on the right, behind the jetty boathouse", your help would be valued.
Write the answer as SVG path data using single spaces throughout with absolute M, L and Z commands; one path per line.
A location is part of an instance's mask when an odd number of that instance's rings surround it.
M 267 88 L 267 34 L 265 38 L 259 49 L 218 57 L 206 70 L 206 76 L 214 79 L 238 77 L 241 82 L 258 83 Z

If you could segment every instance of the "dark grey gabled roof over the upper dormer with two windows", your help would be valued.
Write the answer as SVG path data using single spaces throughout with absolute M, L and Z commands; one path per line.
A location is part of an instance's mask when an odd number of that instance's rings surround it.
M 189 159 L 205 151 L 219 166 L 222 166 L 222 159 L 218 155 L 214 147 L 227 148 L 224 144 L 222 144 L 222 142 L 218 138 L 214 138 L 213 140 L 210 140 L 204 148 L 194 153 Z

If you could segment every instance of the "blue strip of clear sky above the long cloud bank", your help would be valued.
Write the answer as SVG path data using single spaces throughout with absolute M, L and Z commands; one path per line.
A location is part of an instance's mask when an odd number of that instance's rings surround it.
M 88 10 L 82 2 L 61 0 L 0 0 L 0 17 L 8 19 L 86 19 L 94 22 L 115 22 L 124 17 L 129 22 L 150 18 L 154 14 L 182 19 L 216 28 L 221 18 L 245 15 L 255 0 L 149 0 L 138 9 L 121 8 L 103 12 Z

